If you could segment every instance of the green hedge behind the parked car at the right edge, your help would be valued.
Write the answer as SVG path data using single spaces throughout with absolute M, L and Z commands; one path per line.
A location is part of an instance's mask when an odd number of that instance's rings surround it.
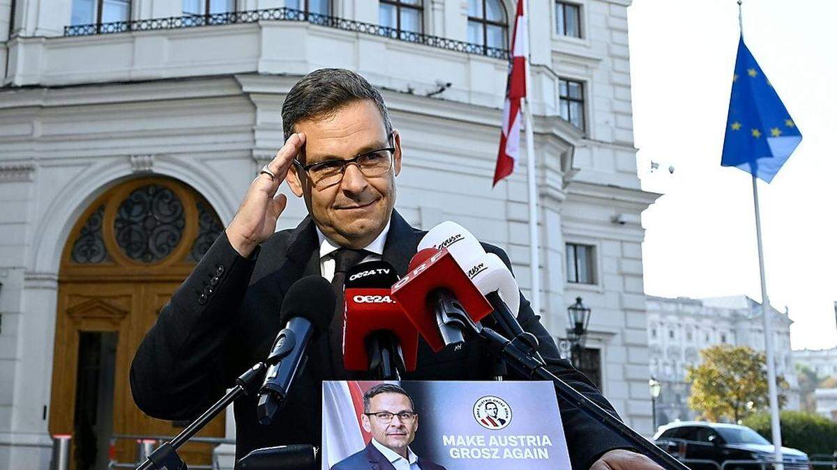
M 831 454 L 837 451 L 837 422 L 804 411 L 782 411 L 779 422 L 783 446 L 799 449 L 809 455 Z M 768 441 L 773 440 L 770 433 L 770 413 L 762 412 L 749 416 L 742 424 L 752 427 Z

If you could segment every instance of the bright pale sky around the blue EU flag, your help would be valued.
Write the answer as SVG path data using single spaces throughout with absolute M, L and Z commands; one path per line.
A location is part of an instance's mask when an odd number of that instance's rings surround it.
M 752 178 L 720 164 L 737 9 L 735 0 L 628 8 L 639 177 L 663 195 L 642 217 L 646 294 L 762 299 Z M 758 183 L 768 298 L 788 307 L 794 350 L 837 346 L 834 18 L 834 0 L 743 2 L 745 43 L 803 135 L 773 182 Z

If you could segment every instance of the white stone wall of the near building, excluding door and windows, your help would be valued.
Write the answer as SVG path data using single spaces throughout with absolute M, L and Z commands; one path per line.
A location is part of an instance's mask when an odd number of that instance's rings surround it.
M 564 336 L 567 306 L 583 297 L 603 392 L 650 434 L 639 215 L 657 195 L 640 190 L 636 171 L 630 2 L 573 2 L 582 38 L 555 33 L 552 1 L 531 2 L 542 322 Z M 408 221 L 452 219 L 505 248 L 531 294 L 525 157 L 491 189 L 505 60 L 290 21 L 64 37 L 71 2 L 18 0 L 9 28 L 11 4 L 0 0 L 0 468 L 49 464 L 59 257 L 80 213 L 119 181 L 158 175 L 192 186 L 229 222 L 282 144 L 285 94 L 313 69 L 352 69 L 383 90 L 403 136 L 397 208 Z M 375 0 L 332 5 L 336 17 L 377 23 Z M 177 17 L 180 6 L 134 0 L 131 18 Z M 424 32 L 465 41 L 467 7 L 424 0 Z M 505 7 L 513 18 L 512 2 Z M 586 130 L 558 117 L 559 77 L 584 84 Z M 426 96 L 439 82 L 451 86 Z M 280 228 L 305 213 L 290 197 Z M 593 246 L 592 283 L 567 284 L 565 243 Z

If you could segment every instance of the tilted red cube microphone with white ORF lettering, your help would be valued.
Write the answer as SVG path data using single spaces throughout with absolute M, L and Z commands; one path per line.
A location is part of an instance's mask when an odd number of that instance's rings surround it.
M 491 313 L 491 304 L 447 248 L 419 251 L 410 260 L 409 269 L 407 275 L 393 284 L 393 298 L 434 352 L 450 342 L 443 337 L 444 329 L 440 331 L 443 324 L 439 314 L 446 306 L 461 306 L 473 322 Z

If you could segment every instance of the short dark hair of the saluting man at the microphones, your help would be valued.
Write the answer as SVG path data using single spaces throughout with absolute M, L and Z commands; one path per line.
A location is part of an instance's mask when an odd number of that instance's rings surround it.
M 359 74 L 347 69 L 318 69 L 302 77 L 290 89 L 282 104 L 285 140 L 301 120 L 323 119 L 357 101 L 371 100 L 381 113 L 387 135 L 393 131 L 383 96 Z

